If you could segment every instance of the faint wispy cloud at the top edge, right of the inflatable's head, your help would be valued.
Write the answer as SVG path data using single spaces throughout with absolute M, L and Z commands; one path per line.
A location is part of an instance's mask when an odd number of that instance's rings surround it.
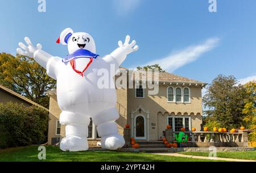
M 141 0 L 113 0 L 114 9 L 120 15 L 128 14 L 135 10 L 141 3 Z

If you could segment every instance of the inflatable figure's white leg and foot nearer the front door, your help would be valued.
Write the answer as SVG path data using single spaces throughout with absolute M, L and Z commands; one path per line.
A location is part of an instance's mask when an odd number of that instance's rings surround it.
M 115 107 L 106 109 L 92 117 L 93 123 L 97 126 L 98 136 L 101 137 L 103 149 L 117 150 L 125 145 L 123 136 L 118 134 L 118 126 L 115 120 L 119 113 Z

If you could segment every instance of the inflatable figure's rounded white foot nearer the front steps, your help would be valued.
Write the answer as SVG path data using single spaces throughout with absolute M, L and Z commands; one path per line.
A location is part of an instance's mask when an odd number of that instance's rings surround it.
M 125 145 L 125 140 L 120 134 L 101 137 L 102 149 L 117 150 Z

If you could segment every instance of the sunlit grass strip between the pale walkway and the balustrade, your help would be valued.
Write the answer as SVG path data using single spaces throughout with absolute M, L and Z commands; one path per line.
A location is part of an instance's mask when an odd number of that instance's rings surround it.
M 209 152 L 180 152 L 179 154 L 209 156 Z M 256 151 L 220 151 L 217 157 L 256 160 Z

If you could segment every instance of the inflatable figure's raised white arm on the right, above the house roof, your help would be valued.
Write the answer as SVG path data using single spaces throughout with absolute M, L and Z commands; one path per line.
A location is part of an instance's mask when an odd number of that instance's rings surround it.
M 127 35 L 125 39 L 125 43 L 123 44 L 122 41 L 118 42 L 119 48 L 115 49 L 114 52 L 110 53 L 109 55 L 105 56 L 105 61 L 117 64 L 118 67 L 125 61 L 127 54 L 135 52 L 139 49 L 138 45 L 136 45 L 136 41 L 133 40 L 131 44 L 129 43 L 130 36 Z M 118 69 L 117 67 L 117 69 Z

